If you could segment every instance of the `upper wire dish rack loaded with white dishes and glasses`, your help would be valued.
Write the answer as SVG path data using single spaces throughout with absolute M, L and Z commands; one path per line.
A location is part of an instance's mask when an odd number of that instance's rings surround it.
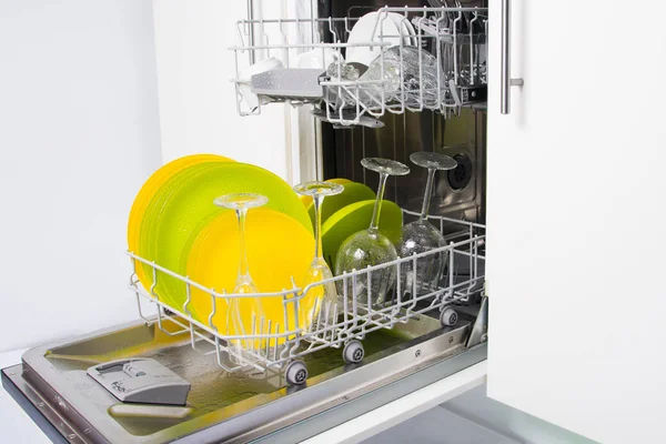
M 487 97 L 486 8 L 384 7 L 362 18 L 236 26 L 241 115 L 270 102 L 315 103 L 320 119 L 353 125 L 407 110 L 457 115 Z

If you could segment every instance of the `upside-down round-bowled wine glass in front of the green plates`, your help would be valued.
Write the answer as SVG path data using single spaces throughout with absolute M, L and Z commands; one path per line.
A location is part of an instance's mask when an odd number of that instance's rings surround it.
M 352 234 L 340 246 L 335 258 L 335 274 L 337 275 L 397 259 L 397 252 L 393 243 L 379 231 L 380 214 L 384 189 L 386 188 L 386 179 L 389 175 L 405 175 L 410 172 L 410 168 L 400 162 L 380 158 L 365 158 L 361 161 L 361 164 L 369 170 L 380 173 L 377 199 L 370 228 Z M 366 306 L 369 309 L 381 306 L 384 303 L 386 293 L 389 293 L 395 282 L 395 269 L 387 266 L 373 271 L 371 282 L 367 282 L 365 273 L 356 276 L 356 285 L 353 284 L 352 279 L 349 279 L 346 283 L 347 297 L 355 297 L 356 302 L 363 306 L 365 304 L 361 300 L 361 296 L 365 294 L 367 295 Z M 339 291 L 343 294 L 342 283 L 340 285 L 341 289 Z

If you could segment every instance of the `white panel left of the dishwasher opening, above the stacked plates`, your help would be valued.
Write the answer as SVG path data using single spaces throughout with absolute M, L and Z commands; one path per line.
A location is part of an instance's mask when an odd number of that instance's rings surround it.
M 235 23 L 246 18 L 246 0 L 155 0 L 163 159 L 212 152 L 269 169 L 293 184 L 299 160 L 292 155 L 286 105 L 264 107 L 258 117 L 236 112 L 230 82 L 234 57 L 228 48 L 239 44 Z M 280 18 L 285 8 L 285 0 L 255 0 L 256 18 Z

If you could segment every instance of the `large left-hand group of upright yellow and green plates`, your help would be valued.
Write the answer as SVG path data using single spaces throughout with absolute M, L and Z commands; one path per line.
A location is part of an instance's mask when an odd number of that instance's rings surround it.
M 240 263 L 238 221 L 232 210 L 220 209 L 213 200 L 239 192 L 269 198 L 263 208 L 250 210 L 246 219 L 250 274 L 259 291 L 291 289 L 292 276 L 297 285 L 314 251 L 306 208 L 278 175 L 219 155 L 178 159 L 145 182 L 130 213 L 130 251 L 180 275 L 189 275 L 206 287 L 232 292 Z M 137 274 L 161 302 L 179 312 L 189 311 L 208 324 L 212 309 L 208 293 L 192 289 L 192 303 L 185 309 L 186 289 L 182 281 L 154 273 L 149 265 L 138 266 Z M 226 309 L 221 301 L 213 322 L 221 333 L 233 334 L 233 329 L 226 327 Z M 270 301 L 250 297 L 241 310 L 246 317 L 261 312 L 266 321 L 284 322 L 279 297 Z

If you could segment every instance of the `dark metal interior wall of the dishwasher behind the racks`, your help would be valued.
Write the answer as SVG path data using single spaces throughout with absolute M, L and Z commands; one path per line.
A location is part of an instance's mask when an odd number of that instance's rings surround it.
M 454 7 L 454 2 L 450 2 Z M 485 0 L 466 0 L 464 7 L 486 7 Z M 426 0 L 327 0 L 320 1 L 320 17 L 359 18 L 383 6 L 427 7 Z M 324 37 L 331 37 L 322 32 Z M 344 36 L 344 32 L 340 32 Z M 379 175 L 361 167 L 365 157 L 381 157 L 407 164 L 412 172 L 393 176 L 386 183 L 385 199 L 404 209 L 418 211 L 427 171 L 410 162 L 417 151 L 443 152 L 453 157 L 458 167 L 437 172 L 431 213 L 453 219 L 485 223 L 485 107 L 463 108 L 460 117 L 444 119 L 433 111 L 393 114 L 380 119 L 384 128 L 351 127 L 334 129 L 322 123 L 322 159 L 324 179 L 345 178 L 363 182 L 376 190 Z

